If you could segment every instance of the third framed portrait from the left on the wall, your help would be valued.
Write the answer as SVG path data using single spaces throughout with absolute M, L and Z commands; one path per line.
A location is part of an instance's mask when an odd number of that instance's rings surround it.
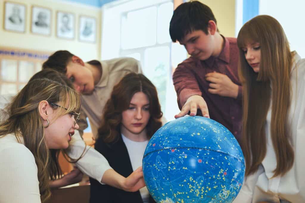
M 56 36 L 65 39 L 74 39 L 75 18 L 73 13 L 57 11 Z

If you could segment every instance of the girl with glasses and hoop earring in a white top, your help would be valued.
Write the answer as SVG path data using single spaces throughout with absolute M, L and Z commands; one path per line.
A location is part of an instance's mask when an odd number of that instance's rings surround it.
M 0 124 L 1 202 L 46 202 L 49 181 L 61 176 L 60 149 L 69 146 L 80 98 L 48 79 L 30 81 L 13 98 Z

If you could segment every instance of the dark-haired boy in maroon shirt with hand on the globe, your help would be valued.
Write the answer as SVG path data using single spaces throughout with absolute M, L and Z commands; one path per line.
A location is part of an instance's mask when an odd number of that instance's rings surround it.
M 222 36 L 211 9 L 198 1 L 183 3 L 175 9 L 170 37 L 184 45 L 191 55 L 173 74 L 181 109 L 175 117 L 188 112 L 195 116 L 198 109 L 204 117 L 227 127 L 240 141 L 242 88 L 236 38 Z

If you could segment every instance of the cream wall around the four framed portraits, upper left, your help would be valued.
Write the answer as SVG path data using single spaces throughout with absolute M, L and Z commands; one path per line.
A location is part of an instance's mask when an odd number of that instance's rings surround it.
M 75 55 L 79 55 L 84 61 L 99 59 L 101 50 L 101 9 L 59 0 L 10 0 L 9 2 L 23 3 L 26 5 L 26 29 L 25 33 L 15 33 L 4 30 L 4 0 L 0 0 L 0 46 L 24 48 L 31 50 L 40 50 L 54 52 L 60 49 L 66 49 Z M 52 10 L 52 30 L 51 36 L 44 36 L 31 33 L 31 6 L 37 5 L 47 7 Z M 75 36 L 73 40 L 61 39 L 56 37 L 56 12 L 72 12 L 75 15 Z M 95 43 L 80 42 L 78 40 L 79 16 L 95 17 L 97 22 L 97 40 Z

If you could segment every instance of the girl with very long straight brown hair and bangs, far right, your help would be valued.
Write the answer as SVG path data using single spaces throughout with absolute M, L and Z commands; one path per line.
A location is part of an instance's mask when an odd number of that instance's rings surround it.
M 246 177 L 234 202 L 305 202 L 305 60 L 271 16 L 245 23 L 237 43 Z

